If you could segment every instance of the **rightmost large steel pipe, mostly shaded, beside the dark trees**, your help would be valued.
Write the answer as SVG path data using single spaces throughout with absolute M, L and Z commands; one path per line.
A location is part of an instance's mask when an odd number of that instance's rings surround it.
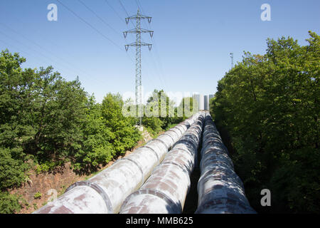
M 206 113 L 201 148 L 201 177 L 198 180 L 198 214 L 254 214 L 235 173 L 228 150 Z

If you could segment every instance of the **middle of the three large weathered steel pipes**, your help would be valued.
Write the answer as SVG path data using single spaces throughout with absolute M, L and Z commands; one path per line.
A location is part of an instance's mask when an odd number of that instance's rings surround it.
M 120 214 L 178 214 L 191 185 L 205 113 L 184 133 L 142 187 L 124 200 Z

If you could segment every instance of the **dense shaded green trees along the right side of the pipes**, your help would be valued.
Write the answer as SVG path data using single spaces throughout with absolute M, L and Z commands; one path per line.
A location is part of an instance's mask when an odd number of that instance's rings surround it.
M 319 213 L 320 37 L 267 40 L 218 82 L 210 113 L 257 212 Z M 262 207 L 260 191 L 271 191 Z

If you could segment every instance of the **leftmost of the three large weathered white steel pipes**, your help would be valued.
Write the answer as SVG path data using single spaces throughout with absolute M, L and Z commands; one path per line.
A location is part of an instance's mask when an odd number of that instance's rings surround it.
M 87 181 L 75 182 L 55 201 L 35 214 L 112 214 L 118 213 L 124 199 L 139 189 L 172 145 L 198 120 L 191 118 L 139 147 L 132 154 Z

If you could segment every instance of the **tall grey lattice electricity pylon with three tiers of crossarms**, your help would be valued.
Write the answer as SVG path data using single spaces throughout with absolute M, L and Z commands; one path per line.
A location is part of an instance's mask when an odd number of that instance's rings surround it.
M 130 20 L 136 20 L 136 28 L 133 28 L 129 31 L 124 31 L 124 38 L 127 38 L 128 33 L 136 33 L 136 42 L 125 45 L 126 51 L 128 51 L 129 46 L 136 47 L 136 105 L 137 116 L 140 117 L 140 125 L 142 124 L 142 115 L 144 115 L 142 110 L 142 73 L 141 73 L 141 46 L 148 46 L 149 51 L 151 51 L 152 44 L 144 43 L 141 41 L 141 33 L 150 33 L 150 36 L 154 36 L 154 31 L 146 30 L 141 28 L 141 20 L 148 19 L 149 24 L 151 23 L 150 16 L 144 16 L 140 14 L 138 9 L 137 15 L 129 16 L 126 18 L 126 23 L 129 24 Z

